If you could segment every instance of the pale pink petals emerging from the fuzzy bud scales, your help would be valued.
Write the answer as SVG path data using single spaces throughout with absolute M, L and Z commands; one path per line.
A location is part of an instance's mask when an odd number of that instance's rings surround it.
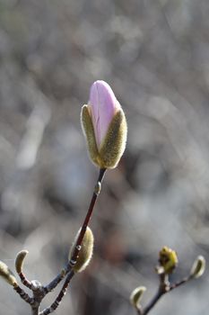
M 111 87 L 105 81 L 96 81 L 91 85 L 90 106 L 92 122 L 98 148 L 109 129 L 109 123 L 120 108 L 120 104 Z

